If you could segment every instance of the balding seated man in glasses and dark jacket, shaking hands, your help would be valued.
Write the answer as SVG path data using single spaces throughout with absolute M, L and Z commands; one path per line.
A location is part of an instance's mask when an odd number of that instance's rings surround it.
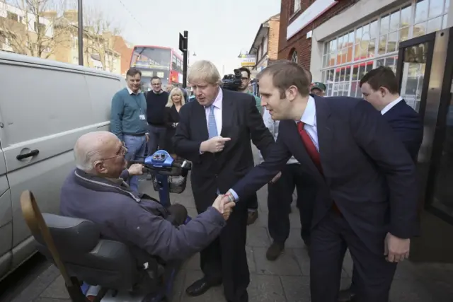
M 60 214 L 93 221 L 103 238 L 125 243 L 138 266 L 156 258 L 183 260 L 219 236 L 233 203 L 219 196 L 210 209 L 183 225 L 183 205 L 167 209 L 147 194 L 130 190 L 128 178 L 141 175 L 143 167 L 126 169 L 126 151 L 110 132 L 81 136 L 74 146 L 76 169 L 62 187 Z

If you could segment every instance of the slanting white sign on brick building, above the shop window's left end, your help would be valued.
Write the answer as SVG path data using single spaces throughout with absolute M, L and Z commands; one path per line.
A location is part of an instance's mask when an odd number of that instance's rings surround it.
M 316 18 L 325 13 L 329 8 L 336 5 L 338 0 L 316 0 L 306 8 L 306 10 L 299 15 L 291 24 L 288 25 L 286 32 L 286 40 L 303 30 L 306 25 L 315 21 Z

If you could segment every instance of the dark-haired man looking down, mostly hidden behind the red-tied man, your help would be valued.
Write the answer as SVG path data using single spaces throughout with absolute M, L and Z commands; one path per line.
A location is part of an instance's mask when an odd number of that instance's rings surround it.
M 381 112 L 384 119 L 403 142 L 406 150 L 417 163 L 418 150 L 423 140 L 423 122 L 418 113 L 401 98 L 398 80 L 391 68 L 379 66 L 369 71 L 360 80 L 360 88 L 365 98 Z M 340 301 L 354 301 L 355 281 L 352 278 L 350 289 L 340 291 Z

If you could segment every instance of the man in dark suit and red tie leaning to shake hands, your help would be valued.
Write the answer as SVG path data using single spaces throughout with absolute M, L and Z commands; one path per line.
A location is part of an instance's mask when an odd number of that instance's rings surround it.
M 337 302 L 343 257 L 355 264 L 356 301 L 386 302 L 417 225 L 415 165 L 365 100 L 309 95 L 304 69 L 277 62 L 258 76 L 261 100 L 280 120 L 277 144 L 226 197 L 237 205 L 293 155 L 316 180 L 311 225 L 312 302 Z

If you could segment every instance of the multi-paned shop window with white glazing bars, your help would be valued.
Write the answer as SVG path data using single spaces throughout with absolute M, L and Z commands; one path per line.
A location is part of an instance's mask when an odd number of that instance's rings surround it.
M 360 97 L 362 76 L 377 66 L 396 71 L 399 43 L 445 28 L 448 8 L 449 0 L 413 0 L 324 43 L 326 95 Z

